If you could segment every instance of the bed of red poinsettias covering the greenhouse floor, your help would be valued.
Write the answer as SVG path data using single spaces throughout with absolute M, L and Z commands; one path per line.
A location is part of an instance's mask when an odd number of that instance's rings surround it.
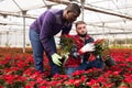
M 117 65 L 105 70 L 78 70 L 70 78 L 56 74 L 51 79 L 45 78 L 51 69 L 45 55 L 46 70 L 40 74 L 34 69 L 32 54 L 3 51 L 0 51 L 0 88 L 132 88 L 132 50 L 129 48 L 110 50 Z

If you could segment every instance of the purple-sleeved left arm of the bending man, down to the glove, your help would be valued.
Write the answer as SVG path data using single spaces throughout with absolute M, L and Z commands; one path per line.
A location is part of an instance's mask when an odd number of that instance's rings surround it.
M 44 50 L 50 54 L 54 54 L 56 52 L 56 50 L 53 50 L 56 46 L 52 45 L 52 37 L 53 35 L 53 26 L 55 23 L 55 16 L 52 12 L 46 12 L 44 16 L 42 16 L 42 28 L 41 28 L 41 32 L 40 32 L 40 40 L 44 46 Z

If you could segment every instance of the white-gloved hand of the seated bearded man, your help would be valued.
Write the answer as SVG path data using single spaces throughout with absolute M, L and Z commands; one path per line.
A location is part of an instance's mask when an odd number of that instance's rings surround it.
M 95 51 L 95 44 L 94 43 L 87 43 L 85 46 L 82 46 L 79 50 L 79 53 L 94 52 L 94 51 Z

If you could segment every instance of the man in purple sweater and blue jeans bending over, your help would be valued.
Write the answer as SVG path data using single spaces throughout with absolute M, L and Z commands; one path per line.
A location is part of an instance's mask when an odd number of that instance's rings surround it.
M 50 65 L 51 75 L 59 73 L 62 57 L 56 53 L 54 35 L 59 31 L 68 34 L 73 22 L 79 16 L 80 8 L 76 3 L 70 3 L 64 10 L 47 10 L 40 15 L 30 26 L 30 41 L 33 48 L 35 69 L 44 73 L 43 53 L 45 52 Z

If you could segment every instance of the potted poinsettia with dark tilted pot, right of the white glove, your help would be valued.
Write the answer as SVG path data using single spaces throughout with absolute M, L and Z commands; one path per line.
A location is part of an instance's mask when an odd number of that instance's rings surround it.
M 94 61 L 95 58 L 102 58 L 107 66 L 111 67 L 116 65 L 114 59 L 110 56 L 110 48 L 108 46 L 108 42 L 103 38 L 97 40 L 94 42 L 95 51 L 90 53 L 89 61 Z

